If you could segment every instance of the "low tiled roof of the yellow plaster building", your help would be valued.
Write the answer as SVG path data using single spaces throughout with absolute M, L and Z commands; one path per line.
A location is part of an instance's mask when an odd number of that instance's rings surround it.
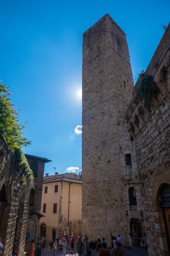
M 51 183 L 51 182 L 70 182 L 70 183 L 78 183 L 82 184 L 82 176 L 76 175 L 75 173 L 64 173 L 56 175 L 45 176 L 43 183 Z

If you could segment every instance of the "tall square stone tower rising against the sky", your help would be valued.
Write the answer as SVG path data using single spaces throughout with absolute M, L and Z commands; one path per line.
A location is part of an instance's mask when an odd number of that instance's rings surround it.
M 82 236 L 110 241 L 125 225 L 118 118 L 131 101 L 126 35 L 106 14 L 83 34 Z

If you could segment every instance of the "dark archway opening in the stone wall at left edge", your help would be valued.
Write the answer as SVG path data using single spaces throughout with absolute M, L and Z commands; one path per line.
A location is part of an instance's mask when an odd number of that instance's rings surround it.
M 5 247 L 9 212 L 11 208 L 11 188 L 6 181 L 0 189 L 0 237 Z

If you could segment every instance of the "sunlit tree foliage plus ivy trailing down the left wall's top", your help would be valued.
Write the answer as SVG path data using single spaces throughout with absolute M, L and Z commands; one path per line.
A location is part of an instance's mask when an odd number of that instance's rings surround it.
M 14 104 L 11 103 L 11 99 L 9 98 L 10 95 L 9 88 L 4 84 L 0 84 L 0 132 L 11 151 L 14 152 L 19 165 L 28 174 L 30 185 L 33 186 L 34 175 L 21 149 L 23 146 L 30 145 L 31 141 L 23 136 L 25 125 L 21 124 L 18 113 L 19 109 L 14 108 Z M 24 183 L 24 180 L 21 180 L 21 182 Z

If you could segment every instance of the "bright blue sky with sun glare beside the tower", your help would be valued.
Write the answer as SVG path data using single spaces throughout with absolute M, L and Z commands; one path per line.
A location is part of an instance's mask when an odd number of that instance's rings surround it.
M 147 3 L 148 2 L 148 3 Z M 82 33 L 108 13 L 124 30 L 134 79 L 169 22 L 170 1 L 1 0 L 0 79 L 29 121 L 25 153 L 47 157 L 54 174 L 81 166 Z

